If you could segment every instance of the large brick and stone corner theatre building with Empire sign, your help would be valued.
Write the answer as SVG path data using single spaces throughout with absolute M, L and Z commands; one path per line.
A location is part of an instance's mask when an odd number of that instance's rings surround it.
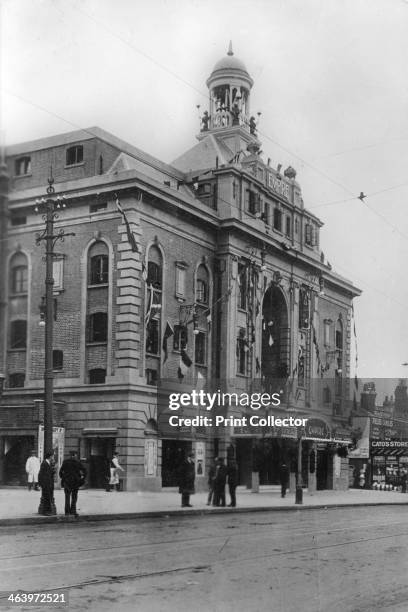
M 79 451 L 89 486 L 104 485 L 114 450 L 124 489 L 176 486 L 190 448 L 198 489 L 217 455 L 237 459 L 242 485 L 274 484 L 282 460 L 293 467 L 299 437 L 304 483 L 347 486 L 352 300 L 360 291 L 326 261 L 322 223 L 295 169 L 264 159 L 253 80 L 231 48 L 207 86 L 197 141 L 171 164 L 97 127 L 8 148 L 2 484 L 23 483 L 29 450 L 42 445 L 45 264 L 36 237 L 51 184 L 55 230 L 66 234 L 53 261 L 55 444 L 60 456 Z M 171 426 L 169 393 L 193 389 L 280 396 L 257 411 L 217 404 L 214 415 L 309 421 L 304 429 Z M 209 411 L 187 405 L 177 413 Z

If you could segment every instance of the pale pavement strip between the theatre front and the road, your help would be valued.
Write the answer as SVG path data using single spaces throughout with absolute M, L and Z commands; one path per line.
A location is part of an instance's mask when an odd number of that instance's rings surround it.
M 79 491 L 78 518 L 64 515 L 64 491 L 55 490 L 56 516 L 41 516 L 38 505 L 41 493 L 24 487 L 0 489 L 0 526 L 75 521 L 95 521 L 131 518 L 155 518 L 175 515 L 214 514 L 220 512 L 261 512 L 265 510 L 308 510 L 313 508 L 339 508 L 352 506 L 378 506 L 408 504 L 408 493 L 397 491 L 303 491 L 303 503 L 295 504 L 295 494 L 280 496 L 280 487 L 260 487 L 252 493 L 244 487 L 237 488 L 237 507 L 214 508 L 207 506 L 207 494 L 198 492 L 191 496 L 192 508 L 181 508 L 177 489 L 160 492 L 137 491 L 107 493 L 101 489 Z M 226 495 L 229 503 L 228 492 Z

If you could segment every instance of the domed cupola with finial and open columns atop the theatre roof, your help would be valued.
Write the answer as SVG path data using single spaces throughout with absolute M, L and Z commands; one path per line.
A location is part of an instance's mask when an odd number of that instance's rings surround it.
M 210 93 L 210 125 L 207 125 L 207 129 L 232 126 L 248 128 L 250 91 L 253 84 L 244 62 L 234 55 L 230 42 L 227 55 L 215 64 L 207 79 Z

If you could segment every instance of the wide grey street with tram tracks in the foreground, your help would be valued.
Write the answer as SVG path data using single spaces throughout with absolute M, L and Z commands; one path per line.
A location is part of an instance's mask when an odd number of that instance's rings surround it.
M 78 612 L 402 611 L 407 544 L 390 506 L 1 527 L 0 608 L 65 589 Z

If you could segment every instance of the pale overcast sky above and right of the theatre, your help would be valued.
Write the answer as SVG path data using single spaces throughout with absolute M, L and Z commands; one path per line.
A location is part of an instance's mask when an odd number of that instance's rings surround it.
M 407 32 L 406 0 L 3 0 L 5 141 L 99 125 L 170 162 L 232 39 L 264 159 L 296 168 L 326 258 L 363 289 L 359 376 L 405 376 Z

